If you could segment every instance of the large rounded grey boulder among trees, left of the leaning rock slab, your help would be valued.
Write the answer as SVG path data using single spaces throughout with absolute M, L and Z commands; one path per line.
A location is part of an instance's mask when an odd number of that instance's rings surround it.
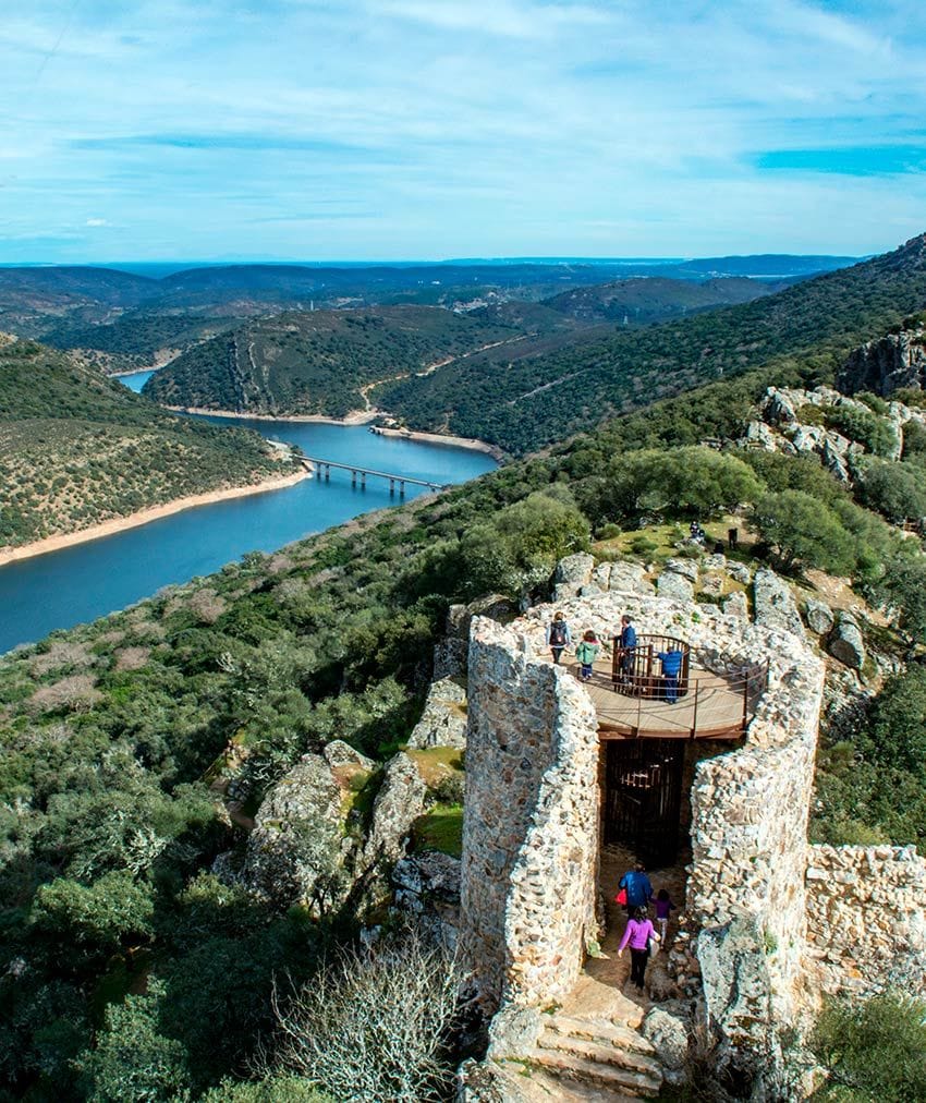
M 306 754 L 269 791 L 248 836 L 241 880 L 278 903 L 308 899 L 336 848 L 341 789 L 320 754 Z

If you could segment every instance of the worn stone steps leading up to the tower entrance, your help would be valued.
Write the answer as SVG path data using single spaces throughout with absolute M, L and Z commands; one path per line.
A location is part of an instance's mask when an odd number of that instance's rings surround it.
M 590 1097 L 624 1100 L 659 1094 L 663 1070 L 637 1021 L 557 1013 L 545 1016 L 537 1046 L 524 1057 L 563 1086 L 585 1086 Z

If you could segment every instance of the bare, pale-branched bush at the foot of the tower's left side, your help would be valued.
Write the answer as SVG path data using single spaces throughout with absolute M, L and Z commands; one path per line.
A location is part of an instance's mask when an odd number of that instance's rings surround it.
M 445 952 L 403 936 L 340 959 L 290 998 L 274 995 L 268 1072 L 304 1078 L 338 1100 L 440 1100 L 459 976 Z

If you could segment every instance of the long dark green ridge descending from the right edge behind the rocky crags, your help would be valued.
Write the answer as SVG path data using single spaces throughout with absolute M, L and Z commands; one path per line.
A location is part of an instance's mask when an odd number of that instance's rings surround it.
M 831 375 L 860 342 L 926 304 L 926 237 L 744 306 L 621 331 L 574 349 L 471 356 L 397 381 L 378 403 L 421 429 L 526 452 L 609 416 L 817 346 Z

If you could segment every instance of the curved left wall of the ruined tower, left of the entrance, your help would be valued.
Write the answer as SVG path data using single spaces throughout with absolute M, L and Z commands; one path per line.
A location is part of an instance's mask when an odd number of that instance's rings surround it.
M 579 684 L 476 618 L 461 951 L 493 1009 L 568 993 L 597 936 L 596 762 L 597 721 Z

